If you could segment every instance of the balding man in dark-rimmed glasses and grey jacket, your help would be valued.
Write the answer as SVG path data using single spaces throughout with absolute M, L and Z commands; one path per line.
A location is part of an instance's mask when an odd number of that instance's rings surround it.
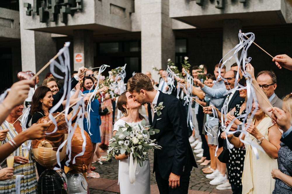
M 275 94 L 277 88 L 277 77 L 273 71 L 261 71 L 256 76 L 260 88 L 266 93 L 272 106 L 282 109 L 283 101 Z

